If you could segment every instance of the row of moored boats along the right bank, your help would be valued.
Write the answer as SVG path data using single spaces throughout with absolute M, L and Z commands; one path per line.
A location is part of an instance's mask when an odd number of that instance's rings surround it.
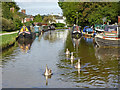
M 95 38 L 95 42 L 100 47 L 120 47 L 120 27 L 118 25 L 95 25 L 95 27 L 85 26 L 81 30 L 80 26 L 73 26 L 72 36 L 90 36 Z

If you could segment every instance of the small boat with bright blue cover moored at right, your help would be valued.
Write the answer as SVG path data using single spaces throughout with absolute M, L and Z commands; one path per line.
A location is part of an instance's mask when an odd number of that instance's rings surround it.
M 95 33 L 95 31 L 93 30 L 93 28 L 91 28 L 91 27 L 89 27 L 89 26 L 85 26 L 85 27 L 84 27 L 82 34 L 83 34 L 84 36 L 90 36 L 90 37 L 96 35 L 96 33 Z

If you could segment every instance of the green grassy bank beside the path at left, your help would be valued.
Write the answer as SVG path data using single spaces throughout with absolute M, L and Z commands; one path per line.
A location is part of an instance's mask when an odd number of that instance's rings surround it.
M 5 49 L 12 45 L 15 42 L 16 36 L 17 33 L 0 36 L 1 39 L 0 47 L 2 47 L 2 49 Z

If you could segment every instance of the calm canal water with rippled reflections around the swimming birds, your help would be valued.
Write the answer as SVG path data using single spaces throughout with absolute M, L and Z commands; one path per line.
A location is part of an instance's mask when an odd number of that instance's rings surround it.
M 74 61 L 65 55 L 67 48 Z M 72 38 L 69 30 L 16 42 L 2 56 L 3 88 L 118 88 L 118 49 L 96 47 L 94 38 Z M 78 58 L 81 69 L 74 68 Z M 44 76 L 46 64 L 51 77 Z

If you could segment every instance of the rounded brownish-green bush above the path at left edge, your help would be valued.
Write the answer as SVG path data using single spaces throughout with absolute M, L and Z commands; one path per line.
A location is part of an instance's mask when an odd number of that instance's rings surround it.
M 14 31 L 15 24 L 11 20 L 2 18 L 2 30 L 3 31 Z

